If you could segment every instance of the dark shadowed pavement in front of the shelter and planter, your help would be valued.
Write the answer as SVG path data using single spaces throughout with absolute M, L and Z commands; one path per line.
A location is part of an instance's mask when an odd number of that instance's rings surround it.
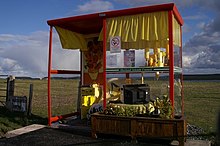
M 87 129 L 88 130 L 88 129 Z M 169 141 L 138 140 L 132 141 L 128 137 L 112 135 L 99 135 L 97 139 L 91 138 L 90 132 L 75 128 L 49 128 L 45 127 L 36 131 L 25 133 L 12 138 L 0 139 L 4 146 L 167 146 Z

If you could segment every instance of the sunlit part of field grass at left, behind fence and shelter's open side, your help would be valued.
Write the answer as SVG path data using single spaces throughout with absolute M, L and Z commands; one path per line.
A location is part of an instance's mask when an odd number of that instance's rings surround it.
M 15 95 L 29 96 L 29 86 L 33 84 L 32 113 L 47 117 L 47 80 L 16 80 Z M 78 80 L 52 80 L 52 114 L 66 114 L 76 111 Z

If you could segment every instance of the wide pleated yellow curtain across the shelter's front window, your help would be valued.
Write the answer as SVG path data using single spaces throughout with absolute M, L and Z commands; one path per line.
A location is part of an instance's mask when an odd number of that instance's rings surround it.
M 120 36 L 122 48 L 165 47 L 168 43 L 168 12 L 144 13 L 107 19 L 107 42 Z M 100 34 L 102 40 L 102 32 Z

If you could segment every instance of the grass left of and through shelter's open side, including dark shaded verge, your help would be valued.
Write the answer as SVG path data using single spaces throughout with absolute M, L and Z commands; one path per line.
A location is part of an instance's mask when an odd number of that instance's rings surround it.
M 0 103 L 0 137 L 9 130 L 26 125 L 47 124 L 47 80 L 15 80 L 15 96 L 29 97 L 29 87 L 33 84 L 32 115 L 10 112 Z M 5 80 L 0 79 L 0 87 L 6 88 Z M 5 95 L 5 91 L 1 95 Z M 60 115 L 76 111 L 78 80 L 52 80 L 52 114 Z M 0 101 L 5 101 L 1 97 Z

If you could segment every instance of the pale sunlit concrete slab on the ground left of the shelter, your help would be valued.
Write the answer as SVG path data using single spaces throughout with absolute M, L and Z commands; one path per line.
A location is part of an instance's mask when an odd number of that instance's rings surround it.
M 39 130 L 39 129 L 44 128 L 44 127 L 46 127 L 46 126 L 45 125 L 39 125 L 39 124 L 29 125 L 29 126 L 26 126 L 26 127 L 22 127 L 22 128 L 7 132 L 5 134 L 5 137 L 6 138 L 15 137 L 15 136 L 18 136 L 18 135 L 21 135 L 21 134 L 24 134 L 24 133 Z

